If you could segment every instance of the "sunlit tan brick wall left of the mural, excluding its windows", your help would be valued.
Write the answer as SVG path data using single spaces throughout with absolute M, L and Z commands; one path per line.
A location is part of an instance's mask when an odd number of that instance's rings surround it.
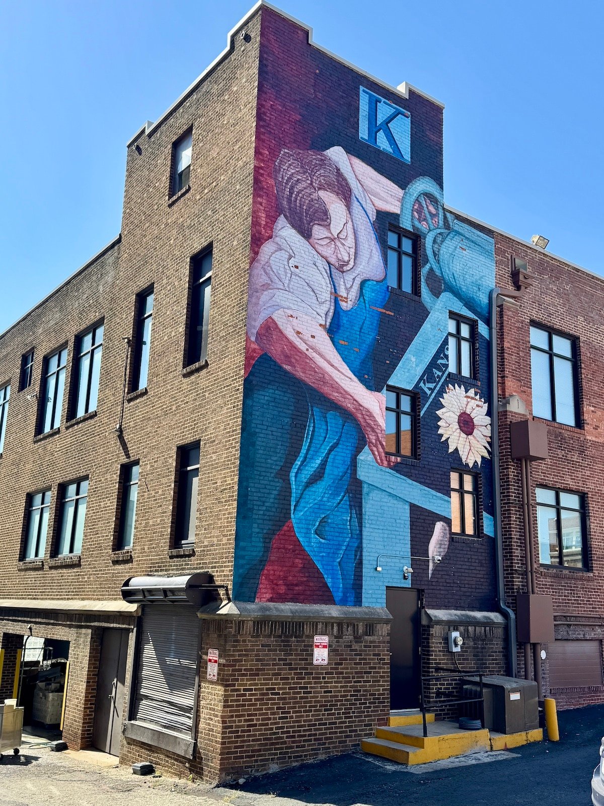
M 122 240 L 0 337 L 0 384 L 11 382 L 0 458 L 0 598 L 116 599 L 126 577 L 212 571 L 230 584 L 241 427 L 253 181 L 259 17 L 230 56 L 128 149 Z M 168 205 L 172 143 L 192 126 L 190 190 Z M 134 145 L 139 145 L 139 154 Z M 213 243 L 208 366 L 183 377 L 189 259 Z M 122 402 L 125 343 L 136 293 L 155 284 L 148 393 Z M 74 337 L 105 318 L 97 414 L 65 427 Z M 34 442 L 44 355 L 68 345 L 60 433 Z M 18 392 L 21 355 L 35 347 L 34 381 Z M 37 404 L 39 406 L 39 403 Z M 197 548 L 168 558 L 176 447 L 201 440 Z M 121 463 L 140 461 L 132 557 L 112 562 Z M 89 476 L 81 564 L 50 567 L 57 485 Z M 52 488 L 43 567 L 19 567 L 27 492 Z

